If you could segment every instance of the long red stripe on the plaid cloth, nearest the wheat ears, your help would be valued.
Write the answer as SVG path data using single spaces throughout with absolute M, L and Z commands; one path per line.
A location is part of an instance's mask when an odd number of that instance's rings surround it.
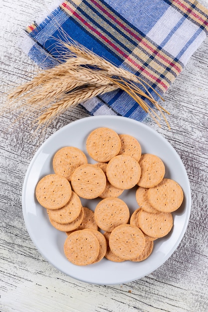
M 153 80 L 158 82 L 160 85 L 162 85 L 165 90 L 168 89 L 168 86 L 158 77 L 152 75 L 150 72 L 148 72 L 145 68 L 140 66 L 135 60 L 133 60 L 129 55 L 127 55 L 124 51 L 122 51 L 119 47 L 117 47 L 113 42 L 111 42 L 108 38 L 106 38 L 101 32 L 99 32 L 97 29 L 95 29 L 93 26 L 91 26 L 84 18 L 82 18 L 75 10 L 73 10 L 70 6 L 68 6 L 66 3 L 63 3 L 63 6 L 68 9 L 74 16 L 76 16 L 85 26 L 87 26 L 90 30 L 92 30 L 94 33 L 96 33 L 100 38 L 102 38 L 106 43 L 108 43 L 112 48 L 114 48 L 119 54 L 124 56 L 129 62 L 131 62 L 135 67 L 137 67 L 139 70 L 144 72 L 146 75 L 151 77 Z

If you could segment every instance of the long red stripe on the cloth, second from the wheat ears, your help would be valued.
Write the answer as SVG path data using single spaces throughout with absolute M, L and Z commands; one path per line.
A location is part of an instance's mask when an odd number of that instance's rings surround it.
M 167 59 L 164 55 L 159 53 L 159 51 L 152 48 L 147 42 L 143 41 L 142 37 L 139 37 L 136 33 L 134 33 L 131 29 L 127 28 L 122 24 L 115 16 L 113 16 L 110 12 L 108 12 L 104 7 L 102 7 L 99 3 L 97 3 L 95 0 L 90 0 L 92 3 L 94 3 L 103 13 L 105 13 L 109 18 L 111 18 L 114 22 L 116 22 L 120 27 L 122 27 L 125 31 L 127 31 L 129 34 L 131 34 L 135 39 L 137 39 L 141 44 L 145 45 L 151 52 L 153 52 L 155 55 L 159 56 L 164 62 L 171 65 L 173 68 L 175 68 L 178 73 L 181 72 L 181 68 L 171 62 L 169 59 Z

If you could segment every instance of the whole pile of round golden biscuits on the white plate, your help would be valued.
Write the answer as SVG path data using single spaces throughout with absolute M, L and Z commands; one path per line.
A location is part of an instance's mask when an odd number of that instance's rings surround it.
M 35 189 L 49 221 L 66 232 L 63 249 L 79 266 L 104 257 L 114 262 L 139 262 L 150 256 L 153 242 L 173 227 L 172 212 L 184 198 L 181 186 L 165 178 L 161 158 L 142 154 L 139 142 L 110 128 L 97 128 L 87 137 L 89 163 L 78 148 L 64 147 L 53 156 L 54 173 L 41 178 Z M 119 196 L 135 189 L 138 207 L 130 210 Z M 93 211 L 80 198 L 100 198 Z

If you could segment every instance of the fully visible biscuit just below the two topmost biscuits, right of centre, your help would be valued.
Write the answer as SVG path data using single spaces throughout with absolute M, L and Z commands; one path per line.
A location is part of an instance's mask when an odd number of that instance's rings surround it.
M 113 157 L 107 165 L 106 175 L 109 182 L 120 189 L 130 189 L 134 187 L 141 174 L 141 168 L 133 157 L 128 155 L 118 155 Z

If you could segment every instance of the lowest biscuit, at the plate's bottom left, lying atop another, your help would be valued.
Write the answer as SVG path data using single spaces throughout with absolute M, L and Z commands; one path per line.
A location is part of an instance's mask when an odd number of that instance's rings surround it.
M 67 236 L 64 254 L 73 264 L 86 266 L 93 263 L 99 254 L 100 244 L 90 230 L 78 230 Z

